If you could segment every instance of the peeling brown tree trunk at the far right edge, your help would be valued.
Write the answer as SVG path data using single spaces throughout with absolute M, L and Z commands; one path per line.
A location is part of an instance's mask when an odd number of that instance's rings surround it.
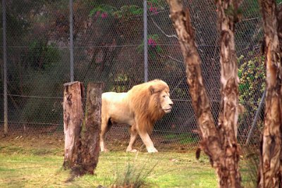
M 258 187 L 281 187 L 281 49 L 276 1 L 260 1 L 264 21 L 266 101 Z M 281 23 L 281 20 L 279 21 Z M 282 39 L 281 31 L 279 33 Z

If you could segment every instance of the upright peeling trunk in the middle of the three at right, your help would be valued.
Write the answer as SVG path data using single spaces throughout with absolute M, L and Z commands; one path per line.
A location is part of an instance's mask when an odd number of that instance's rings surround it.
M 223 144 L 223 170 L 220 184 L 223 187 L 240 187 L 239 146 L 237 143 L 239 91 L 238 65 L 235 51 L 235 23 L 238 22 L 238 5 L 236 0 L 216 1 L 220 32 L 221 63 L 221 111 L 219 114 L 219 133 Z

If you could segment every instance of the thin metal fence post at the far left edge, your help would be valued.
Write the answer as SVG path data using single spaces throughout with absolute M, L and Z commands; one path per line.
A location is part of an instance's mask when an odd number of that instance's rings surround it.
M 4 61 L 4 134 L 8 134 L 8 97 L 7 97 L 7 43 L 6 43 L 6 1 L 2 0 L 3 7 L 3 61 Z

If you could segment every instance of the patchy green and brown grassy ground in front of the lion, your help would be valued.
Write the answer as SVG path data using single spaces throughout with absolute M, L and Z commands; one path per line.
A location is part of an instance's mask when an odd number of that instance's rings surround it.
M 195 151 L 101 153 L 96 175 L 66 182 L 63 140 L 60 138 L 10 138 L 0 140 L 0 187 L 97 187 L 108 186 L 130 169 L 144 175 L 147 187 L 217 187 L 207 157 L 195 159 Z M 247 174 L 247 170 L 242 170 Z M 243 179 L 244 180 L 244 179 Z M 244 180 L 245 182 L 249 180 Z

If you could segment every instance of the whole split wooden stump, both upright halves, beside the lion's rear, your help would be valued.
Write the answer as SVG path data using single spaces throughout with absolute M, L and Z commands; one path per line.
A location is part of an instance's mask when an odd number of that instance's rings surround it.
M 104 82 L 88 84 L 85 123 L 82 123 L 84 86 L 80 82 L 64 84 L 65 157 L 63 167 L 65 169 L 71 168 L 73 177 L 94 174 L 94 169 L 97 166 L 100 150 L 99 133 L 101 131 L 103 88 Z

